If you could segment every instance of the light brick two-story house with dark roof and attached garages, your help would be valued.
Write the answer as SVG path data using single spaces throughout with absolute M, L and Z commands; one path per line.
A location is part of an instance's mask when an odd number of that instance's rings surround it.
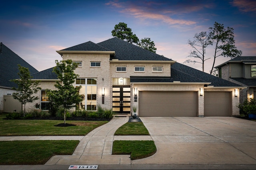
M 88 41 L 57 51 L 63 60 L 78 63 L 74 86 L 82 86 L 79 109 L 97 106 L 139 116 L 236 116 L 239 89 L 233 82 L 176 63 L 116 37 Z M 41 80 L 40 105 L 47 109 L 46 89 L 54 89 L 52 68 L 33 74 Z

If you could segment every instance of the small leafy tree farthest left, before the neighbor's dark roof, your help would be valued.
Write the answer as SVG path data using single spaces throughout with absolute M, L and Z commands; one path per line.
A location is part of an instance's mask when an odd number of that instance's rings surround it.
M 13 90 L 17 90 L 18 92 L 12 93 L 14 99 L 18 100 L 22 105 L 24 105 L 23 116 L 25 116 L 26 112 L 26 103 L 31 103 L 39 98 L 37 96 L 33 96 L 34 93 L 38 92 L 41 88 L 38 87 L 39 81 L 32 81 L 33 78 L 30 75 L 29 69 L 18 64 L 20 79 L 11 80 L 12 82 L 18 84 L 18 88 L 13 87 Z M 23 110 L 23 108 L 22 108 Z

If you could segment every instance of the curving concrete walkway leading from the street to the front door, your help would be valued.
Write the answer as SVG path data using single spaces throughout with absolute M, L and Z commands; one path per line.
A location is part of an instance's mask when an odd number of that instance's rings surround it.
M 129 117 L 114 117 L 84 136 L 72 155 L 56 155 L 46 165 L 53 164 L 131 164 L 130 155 L 112 155 L 114 140 L 152 140 L 150 136 L 114 136 Z

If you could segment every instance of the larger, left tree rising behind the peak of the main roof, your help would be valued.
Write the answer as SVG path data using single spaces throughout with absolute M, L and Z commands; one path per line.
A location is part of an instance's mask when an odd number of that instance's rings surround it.
M 139 39 L 136 34 L 132 33 L 132 29 L 127 27 L 127 24 L 124 22 L 120 22 L 115 25 L 114 29 L 111 31 L 112 36 L 118 37 L 122 40 L 125 40 L 129 43 L 138 44 Z

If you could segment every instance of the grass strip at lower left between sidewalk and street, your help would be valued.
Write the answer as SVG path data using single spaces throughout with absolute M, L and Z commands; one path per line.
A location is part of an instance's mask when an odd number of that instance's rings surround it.
M 54 155 L 71 155 L 79 141 L 0 141 L 1 165 L 45 164 Z

